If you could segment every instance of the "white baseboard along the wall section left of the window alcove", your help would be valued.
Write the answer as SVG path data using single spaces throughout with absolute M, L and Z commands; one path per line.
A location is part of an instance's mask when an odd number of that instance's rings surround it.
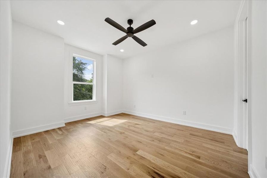
M 38 127 L 32 127 L 32 128 L 27 128 L 19 131 L 13 131 L 13 138 L 19 137 L 19 136 L 24 136 L 24 135 L 29 135 L 29 134 L 34 134 L 37 132 L 42 132 L 42 131 L 47 131 L 53 128 L 59 128 L 59 127 L 64 127 L 65 122 L 58 122 L 58 123 L 53 123 L 53 124 L 48 124 L 48 125 L 42 125 Z

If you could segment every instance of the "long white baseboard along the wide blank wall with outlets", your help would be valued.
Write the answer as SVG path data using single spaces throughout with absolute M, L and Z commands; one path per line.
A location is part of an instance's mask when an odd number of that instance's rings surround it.
M 190 127 L 202 128 L 205 130 L 216 131 L 216 132 L 221 132 L 221 133 L 225 133 L 225 134 L 231 134 L 231 135 L 233 134 L 233 130 L 230 128 L 224 128 L 224 127 L 218 127 L 215 125 L 195 123 L 195 122 L 191 122 L 191 121 L 179 120 L 179 119 L 162 117 L 162 116 L 151 115 L 151 114 L 145 114 L 145 113 L 135 112 L 135 111 L 123 110 L 123 112 L 126 114 L 131 114 L 131 115 L 136 115 L 136 116 L 141 116 L 141 117 L 147 117 L 150 119 L 161 120 L 161 121 L 165 121 L 165 122 L 169 122 L 169 123 L 187 125 Z

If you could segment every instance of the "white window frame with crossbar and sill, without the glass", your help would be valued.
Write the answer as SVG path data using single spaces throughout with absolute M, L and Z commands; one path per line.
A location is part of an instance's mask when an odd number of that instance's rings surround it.
M 87 60 L 91 60 L 93 61 L 93 82 L 92 83 L 87 83 L 87 82 L 73 82 L 73 57 L 80 57 L 80 58 L 84 58 Z M 93 103 L 97 103 L 96 100 L 96 62 L 95 59 L 89 58 L 85 55 L 79 55 L 77 53 L 71 53 L 71 102 L 69 102 L 70 106 L 73 105 L 81 105 L 81 104 L 93 104 Z M 83 85 L 93 85 L 93 96 L 91 100 L 79 100 L 79 101 L 73 101 L 73 84 L 83 84 Z

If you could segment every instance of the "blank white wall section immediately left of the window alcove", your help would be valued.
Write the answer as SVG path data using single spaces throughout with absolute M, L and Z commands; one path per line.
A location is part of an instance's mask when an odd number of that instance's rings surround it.
M 64 125 L 63 79 L 64 39 L 13 22 L 13 135 Z

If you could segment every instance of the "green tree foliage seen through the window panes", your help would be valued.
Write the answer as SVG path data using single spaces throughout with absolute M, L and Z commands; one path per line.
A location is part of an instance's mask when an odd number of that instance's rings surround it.
M 84 78 L 87 63 L 73 57 L 73 82 L 93 82 Z M 73 101 L 91 100 L 93 98 L 93 85 L 73 84 Z

